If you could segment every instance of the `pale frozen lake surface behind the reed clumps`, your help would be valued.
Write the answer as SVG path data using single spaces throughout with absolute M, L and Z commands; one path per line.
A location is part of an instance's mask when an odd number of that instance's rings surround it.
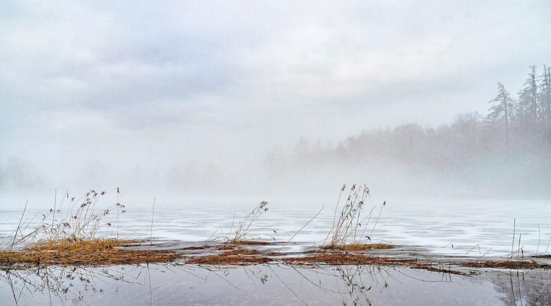
M 31 200 L 25 217 L 53 208 L 53 196 Z M 122 237 L 149 238 L 152 226 L 153 199 L 128 199 L 121 196 L 126 213 L 121 216 L 118 231 Z M 333 223 L 336 199 L 274 199 L 269 211 L 255 222 L 259 231 L 272 235 L 277 242 L 287 242 L 299 229 L 320 214 L 292 239 L 290 247 L 311 246 L 326 238 Z M 116 200 L 101 198 L 96 208 L 105 208 Z M 177 198 L 156 199 L 153 236 L 156 240 L 179 242 L 204 241 L 218 229 L 229 231 L 251 211 L 259 199 L 253 198 Z M 0 196 L 0 235 L 17 228 L 24 199 Z M 511 252 L 513 230 L 515 246 L 525 254 L 545 252 L 551 236 L 551 201 L 549 200 L 419 200 L 387 199 L 379 220 L 382 199 L 365 204 L 363 215 L 374 207 L 365 233 L 375 241 L 383 239 L 396 245 L 420 247 L 429 254 L 453 256 L 501 256 Z M 64 203 L 62 205 L 67 205 Z M 63 210 L 62 206 L 62 210 Z M 111 214 L 109 217 L 114 218 Z M 112 220 L 114 221 L 114 220 Z M 375 225 L 376 223 L 376 225 Z M 235 226 L 234 224 L 234 226 Z M 221 229 L 220 229 L 221 227 Z M 261 235 L 262 236 L 262 235 Z M 267 236 L 261 238 L 271 239 Z M 539 248 L 538 248 L 539 244 Z M 453 247 L 452 247 L 453 245 Z M 548 252 L 551 252 L 549 247 Z

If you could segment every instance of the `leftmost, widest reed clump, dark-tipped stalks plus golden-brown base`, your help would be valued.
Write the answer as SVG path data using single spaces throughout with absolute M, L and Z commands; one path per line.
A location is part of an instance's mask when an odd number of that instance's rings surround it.
M 118 193 L 117 188 L 117 199 Z M 0 243 L 0 266 L 13 269 L 31 265 L 165 263 L 178 258 L 176 253 L 167 250 L 126 248 L 142 241 L 121 239 L 118 230 L 114 231 L 120 216 L 126 212 L 124 205 L 117 201 L 107 209 L 95 209 L 105 194 L 90 190 L 78 199 L 69 199 L 66 192 L 61 202 L 58 204 L 56 199 L 54 208 L 42 214 L 34 227 L 38 214 L 23 221 L 25 205 L 19 226 Z M 65 200 L 69 203 L 63 207 Z M 115 210 L 115 220 L 105 220 Z

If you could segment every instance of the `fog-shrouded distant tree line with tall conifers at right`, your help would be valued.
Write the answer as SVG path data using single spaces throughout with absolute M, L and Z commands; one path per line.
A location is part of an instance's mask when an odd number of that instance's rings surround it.
M 375 129 L 350 136 L 336 147 L 310 145 L 304 138 L 290 155 L 274 150 L 268 163 L 280 168 L 371 160 L 406 167 L 451 170 L 480 162 L 506 167 L 503 161 L 527 166 L 550 165 L 551 159 L 551 68 L 540 74 L 532 65 L 516 97 L 497 84 L 487 114 L 458 114 L 452 124 L 423 128 L 403 124 L 393 129 Z

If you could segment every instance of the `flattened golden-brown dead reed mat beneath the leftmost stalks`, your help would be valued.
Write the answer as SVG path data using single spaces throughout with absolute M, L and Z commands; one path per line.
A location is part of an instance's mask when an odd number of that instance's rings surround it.
M 0 252 L 0 265 L 24 267 L 30 265 L 112 265 L 169 263 L 179 258 L 171 250 L 129 250 L 123 248 L 137 241 L 93 239 L 78 242 L 48 241 L 29 245 L 21 250 Z

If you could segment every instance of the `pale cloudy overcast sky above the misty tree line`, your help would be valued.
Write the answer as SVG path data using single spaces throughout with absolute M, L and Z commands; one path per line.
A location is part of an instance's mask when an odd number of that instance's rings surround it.
M 551 54 L 549 1 L 336 3 L 2 1 L 0 159 L 231 163 L 437 126 Z

